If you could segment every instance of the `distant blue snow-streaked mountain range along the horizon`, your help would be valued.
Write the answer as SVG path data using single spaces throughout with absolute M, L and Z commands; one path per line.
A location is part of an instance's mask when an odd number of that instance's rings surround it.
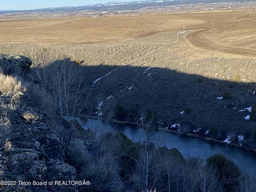
M 81 12 L 81 11 L 94 11 L 94 12 L 107 12 L 107 11 L 128 11 L 138 10 L 144 7 L 156 7 L 156 6 L 170 6 L 178 4 L 195 4 L 195 3 L 218 3 L 218 2 L 245 2 L 254 0 L 138 0 L 128 2 L 108 2 L 105 4 L 91 4 L 77 7 L 50 7 L 45 9 L 36 10 L 10 10 L 1 11 L 0 13 L 30 13 L 30 12 Z

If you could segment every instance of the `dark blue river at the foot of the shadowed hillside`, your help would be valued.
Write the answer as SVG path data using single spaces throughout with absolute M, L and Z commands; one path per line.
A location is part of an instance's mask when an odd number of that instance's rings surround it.
M 105 125 L 99 120 L 88 119 L 84 122 L 81 119 L 76 119 L 84 129 L 90 128 L 97 131 L 98 134 L 103 132 L 112 132 L 113 134 L 122 132 L 133 142 L 142 141 L 143 138 L 142 131 L 132 126 L 116 127 L 112 124 Z M 177 148 L 185 158 L 198 156 L 205 161 L 209 156 L 223 154 L 232 159 L 243 172 L 256 173 L 255 152 L 164 131 L 154 132 L 152 141 L 158 146 L 166 146 L 169 149 Z

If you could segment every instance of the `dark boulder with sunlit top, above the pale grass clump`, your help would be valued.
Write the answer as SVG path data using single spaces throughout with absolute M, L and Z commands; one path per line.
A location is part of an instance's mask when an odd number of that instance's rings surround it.
M 0 72 L 3 74 L 23 75 L 30 71 L 32 61 L 22 55 L 0 55 Z

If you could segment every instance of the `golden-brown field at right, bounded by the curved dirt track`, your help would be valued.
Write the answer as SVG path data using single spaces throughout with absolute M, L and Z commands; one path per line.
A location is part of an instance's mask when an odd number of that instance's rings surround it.
M 187 38 L 196 46 L 208 50 L 256 56 L 256 15 L 254 13 L 256 11 L 252 10 L 200 13 L 202 17 L 207 18 L 209 25 L 188 34 Z M 195 18 L 200 14 L 196 14 Z M 210 25 L 210 23 L 213 24 Z

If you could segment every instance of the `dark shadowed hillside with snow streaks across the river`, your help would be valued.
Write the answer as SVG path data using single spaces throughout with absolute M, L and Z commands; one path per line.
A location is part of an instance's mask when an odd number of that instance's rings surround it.
M 210 79 L 150 66 L 88 66 L 68 62 L 85 77 L 91 114 L 96 112 L 100 99 L 120 103 L 127 111 L 136 104 L 140 109 L 149 108 L 157 113 L 160 123 L 167 125 L 189 123 L 195 128 L 215 127 L 225 137 L 233 132 L 246 135 L 256 128 L 256 121 L 244 119 L 250 115 L 249 111 L 239 112 L 255 102 L 256 83 Z M 55 64 L 51 63 L 45 70 L 51 70 Z M 182 111 L 188 114 L 181 115 Z

